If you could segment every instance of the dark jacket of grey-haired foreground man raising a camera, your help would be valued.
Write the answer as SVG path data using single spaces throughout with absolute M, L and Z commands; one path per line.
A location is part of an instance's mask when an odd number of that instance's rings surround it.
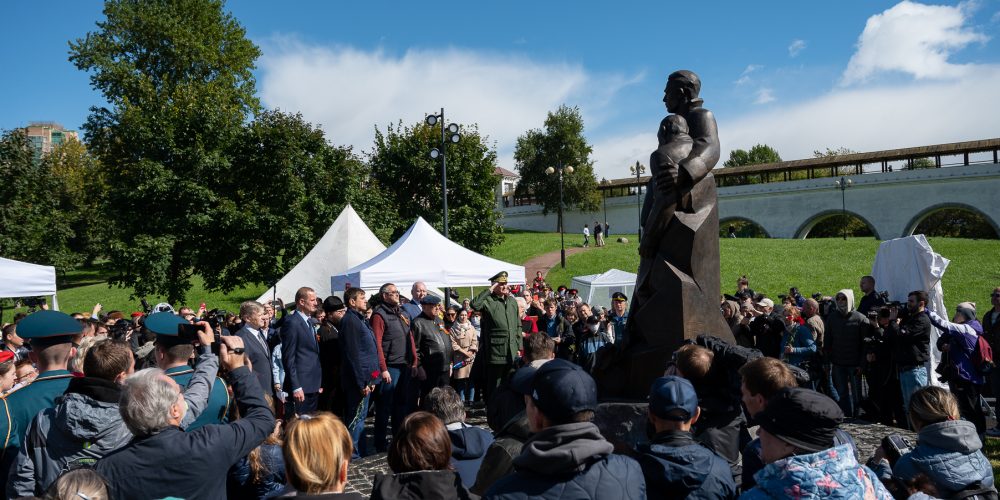
M 226 473 L 274 430 L 274 415 L 247 367 L 229 373 L 243 418 L 184 432 L 179 427 L 133 439 L 97 462 L 110 498 L 218 499 Z

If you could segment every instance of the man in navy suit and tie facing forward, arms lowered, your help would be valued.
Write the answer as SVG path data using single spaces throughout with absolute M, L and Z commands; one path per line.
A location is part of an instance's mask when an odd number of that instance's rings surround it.
M 281 363 L 285 366 L 285 392 L 292 396 L 293 411 L 316 411 L 323 372 L 319 343 L 309 318 L 316 311 L 316 292 L 302 287 L 295 292 L 295 312 L 281 327 Z

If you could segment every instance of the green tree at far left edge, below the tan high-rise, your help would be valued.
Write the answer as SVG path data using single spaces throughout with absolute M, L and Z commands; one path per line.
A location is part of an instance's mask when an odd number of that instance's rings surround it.
M 36 161 L 23 129 L 0 136 L 0 255 L 36 264 L 73 267 L 71 221 L 60 206 L 62 185 L 51 163 Z

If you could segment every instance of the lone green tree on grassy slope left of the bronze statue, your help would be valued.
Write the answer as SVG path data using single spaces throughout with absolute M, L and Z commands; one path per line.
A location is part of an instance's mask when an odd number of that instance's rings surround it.
M 542 206 L 542 213 L 559 209 L 559 181 L 557 175 L 546 174 L 549 167 L 558 164 L 572 166 L 573 173 L 563 175 L 563 203 L 585 212 L 597 210 L 601 196 L 597 191 L 594 162 L 590 159 L 593 148 L 583 136 L 583 117 L 580 109 L 562 105 L 545 118 L 543 129 L 531 129 L 517 138 L 514 161 L 521 179 L 515 196 L 533 197 Z M 562 221 L 556 221 L 556 229 Z

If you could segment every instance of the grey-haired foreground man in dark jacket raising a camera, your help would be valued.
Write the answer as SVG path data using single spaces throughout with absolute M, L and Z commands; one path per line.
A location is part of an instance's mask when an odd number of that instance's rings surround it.
M 158 368 L 125 380 L 119 411 L 135 436 L 97 462 L 112 499 L 225 498 L 226 473 L 274 430 L 264 393 L 245 365 L 243 340 L 224 336 L 219 348 L 243 418 L 184 432 L 187 403 L 180 386 Z

